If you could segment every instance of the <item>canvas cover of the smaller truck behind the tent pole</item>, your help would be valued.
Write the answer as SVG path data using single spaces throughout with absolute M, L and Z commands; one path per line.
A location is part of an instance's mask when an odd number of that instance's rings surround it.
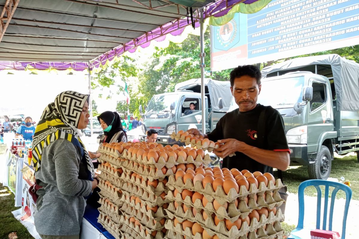
M 228 111 L 229 103 L 232 99 L 232 93 L 230 92 L 230 82 L 229 81 L 216 81 L 211 78 L 204 79 L 205 86 L 208 87 L 205 91 L 206 94 L 209 93 L 211 100 L 211 107 L 213 111 Z M 183 81 L 177 83 L 174 87 L 175 91 L 178 90 L 192 90 L 194 92 L 201 92 L 201 78 L 191 79 L 188 81 Z M 208 95 L 207 95 L 208 96 Z M 218 99 L 222 97 L 223 109 L 218 107 Z

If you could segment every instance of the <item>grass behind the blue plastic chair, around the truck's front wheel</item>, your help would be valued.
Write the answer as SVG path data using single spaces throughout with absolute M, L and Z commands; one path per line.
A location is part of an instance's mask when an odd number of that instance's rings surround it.
M 335 158 L 334 161 L 332 161 L 330 177 L 344 177 L 346 181 L 350 181 L 351 190 L 353 191 L 351 199 L 359 200 L 359 163 L 356 156 Z M 291 193 L 297 194 L 299 184 L 308 179 L 309 176 L 307 166 L 294 166 L 283 172 L 284 184 L 287 185 L 288 192 Z M 314 187 L 308 187 L 304 191 L 304 194 L 308 196 L 316 196 L 317 190 Z M 324 196 L 323 188 L 322 195 Z M 343 191 L 339 191 L 337 193 L 337 198 L 345 198 L 345 193 Z

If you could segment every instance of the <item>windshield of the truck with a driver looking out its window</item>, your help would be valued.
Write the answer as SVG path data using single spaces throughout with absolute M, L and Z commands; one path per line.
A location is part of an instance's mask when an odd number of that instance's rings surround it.
M 171 112 L 171 104 L 176 109 L 177 102 L 177 95 L 153 96 L 146 109 L 146 118 L 167 118 Z M 172 113 L 174 113 L 174 110 L 172 110 Z

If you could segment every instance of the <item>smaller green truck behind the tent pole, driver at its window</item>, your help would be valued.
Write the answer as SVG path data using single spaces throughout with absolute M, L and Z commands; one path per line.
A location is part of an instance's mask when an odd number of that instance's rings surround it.
M 206 132 L 211 132 L 218 120 L 228 111 L 232 97 L 229 81 L 205 78 L 205 120 Z M 194 110 L 190 104 L 195 105 Z M 201 79 L 191 79 L 176 84 L 175 91 L 154 95 L 145 112 L 140 106 L 146 130 L 158 132 L 158 143 L 178 144 L 169 135 L 179 130 L 197 128 L 202 130 Z M 145 140 L 146 135 L 140 136 Z

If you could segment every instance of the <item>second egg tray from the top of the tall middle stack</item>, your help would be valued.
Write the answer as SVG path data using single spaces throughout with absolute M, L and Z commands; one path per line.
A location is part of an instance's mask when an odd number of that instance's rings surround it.
M 139 175 L 141 175 L 145 180 L 153 181 L 155 179 L 163 180 L 164 177 L 168 177 L 170 175 L 174 175 L 172 169 L 168 169 L 165 174 L 163 174 L 162 170 L 158 168 L 149 168 L 148 166 L 144 165 L 143 163 L 135 163 L 133 164 L 133 161 L 121 161 L 121 167 L 123 169 L 123 172 L 135 172 Z

